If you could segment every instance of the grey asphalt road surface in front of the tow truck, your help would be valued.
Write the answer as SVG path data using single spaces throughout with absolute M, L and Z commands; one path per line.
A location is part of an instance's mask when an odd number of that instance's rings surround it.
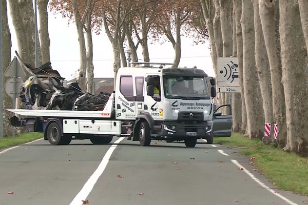
M 38 140 L 0 152 L 0 204 L 308 204 L 278 190 L 237 148 L 115 140 Z

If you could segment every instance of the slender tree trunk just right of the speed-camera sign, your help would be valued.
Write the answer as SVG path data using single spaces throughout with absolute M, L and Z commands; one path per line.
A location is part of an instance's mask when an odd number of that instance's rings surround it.
M 241 89 L 241 103 L 242 103 L 242 123 L 241 123 L 241 133 L 245 134 L 247 129 L 247 113 L 246 113 L 246 103 L 244 95 L 244 83 L 243 83 L 243 35 L 241 26 L 241 16 L 242 16 L 242 2 L 241 0 L 233 0 L 233 5 L 235 8 L 235 24 L 236 24 L 236 42 L 237 42 L 237 57 L 239 60 L 239 84 Z

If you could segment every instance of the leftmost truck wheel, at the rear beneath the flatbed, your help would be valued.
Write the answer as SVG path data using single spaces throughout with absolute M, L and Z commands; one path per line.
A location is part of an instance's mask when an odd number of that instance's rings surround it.
M 61 136 L 60 126 L 56 122 L 49 124 L 46 134 L 51 145 L 68 145 L 72 140 L 71 136 Z

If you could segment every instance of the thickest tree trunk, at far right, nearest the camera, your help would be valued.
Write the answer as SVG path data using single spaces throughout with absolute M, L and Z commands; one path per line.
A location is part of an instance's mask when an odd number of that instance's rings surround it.
M 307 51 L 298 5 L 279 1 L 282 84 L 284 86 L 287 142 L 285 151 L 308 154 Z M 291 69 L 292 68 L 292 69 Z

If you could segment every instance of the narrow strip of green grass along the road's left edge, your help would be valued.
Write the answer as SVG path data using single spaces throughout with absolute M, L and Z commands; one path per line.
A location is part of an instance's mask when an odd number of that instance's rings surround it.
M 39 139 L 43 137 L 43 133 L 40 132 L 27 132 L 21 135 L 17 135 L 16 137 L 4 137 L 0 139 L 0 150 L 4 148 L 13 147 L 16 145 L 21 145 L 29 141 L 33 141 L 35 139 Z

